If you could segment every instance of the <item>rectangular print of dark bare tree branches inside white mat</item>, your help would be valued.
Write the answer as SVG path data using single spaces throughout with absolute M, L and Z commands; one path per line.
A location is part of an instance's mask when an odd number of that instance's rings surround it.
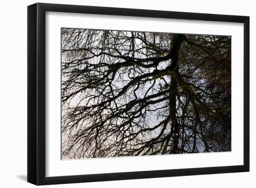
M 231 37 L 62 29 L 62 156 L 230 151 Z

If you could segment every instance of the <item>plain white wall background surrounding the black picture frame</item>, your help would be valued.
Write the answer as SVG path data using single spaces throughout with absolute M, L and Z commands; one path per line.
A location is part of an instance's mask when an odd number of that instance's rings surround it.
M 0 187 L 30 188 L 27 179 L 27 5 L 2 1 L 0 11 Z M 255 187 L 256 12 L 253 0 L 42 0 L 46 3 L 127 7 L 250 16 L 250 172 L 54 185 L 56 188 Z M 242 66 L 242 65 L 241 65 Z M 239 76 L 239 75 L 237 75 Z M 241 107 L 242 109 L 242 107 Z

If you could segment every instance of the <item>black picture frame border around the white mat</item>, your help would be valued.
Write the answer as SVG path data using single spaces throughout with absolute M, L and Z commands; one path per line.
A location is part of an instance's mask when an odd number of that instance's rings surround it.
M 46 12 L 243 23 L 243 165 L 46 177 Z M 27 7 L 27 181 L 35 185 L 249 171 L 249 17 L 36 3 Z

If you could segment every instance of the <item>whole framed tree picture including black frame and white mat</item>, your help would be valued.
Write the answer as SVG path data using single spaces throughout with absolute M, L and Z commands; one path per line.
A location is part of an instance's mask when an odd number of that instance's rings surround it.
M 249 171 L 249 17 L 27 8 L 27 181 Z

